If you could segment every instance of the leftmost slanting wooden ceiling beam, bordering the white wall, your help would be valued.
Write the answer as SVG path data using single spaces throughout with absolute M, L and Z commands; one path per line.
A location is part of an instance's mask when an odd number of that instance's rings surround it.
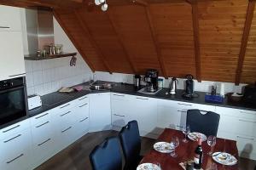
M 90 60 L 87 58 L 87 55 L 84 54 L 84 51 L 82 50 L 82 48 L 79 46 L 79 43 L 76 42 L 76 40 L 73 38 L 73 36 L 70 34 L 70 31 L 67 31 L 67 26 L 65 26 L 65 24 L 63 23 L 63 21 L 60 18 L 60 15 L 57 14 L 57 12 L 54 10 L 53 14 L 55 16 L 55 19 L 58 21 L 58 23 L 61 25 L 61 28 L 65 31 L 65 33 L 67 34 L 67 37 L 71 40 L 71 42 L 73 42 L 73 45 L 78 49 L 79 54 L 82 55 L 82 57 L 84 58 L 85 62 L 87 63 L 87 65 L 89 65 L 91 71 L 96 71 L 95 67 L 92 65 L 92 63 L 90 62 Z

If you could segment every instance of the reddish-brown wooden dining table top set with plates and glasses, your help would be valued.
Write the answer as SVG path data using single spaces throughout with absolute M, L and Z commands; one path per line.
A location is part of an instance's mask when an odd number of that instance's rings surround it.
M 179 163 L 183 161 L 192 160 L 195 155 L 195 148 L 197 146 L 197 142 L 189 140 L 188 143 L 183 143 L 182 139 L 184 138 L 184 134 L 181 131 L 173 130 L 170 128 L 166 128 L 163 133 L 160 134 L 160 137 L 157 139 L 157 142 L 164 141 L 170 142 L 173 136 L 177 136 L 179 138 L 179 145 L 176 148 L 177 157 L 172 157 L 170 154 L 160 153 L 154 148 L 150 150 L 148 154 L 143 157 L 141 163 L 146 162 L 159 162 L 162 170 L 182 170 Z M 202 143 L 203 150 L 203 169 L 210 166 L 212 162 L 216 163 L 218 166 L 218 170 L 230 169 L 237 170 L 238 165 L 234 166 L 224 166 L 212 160 L 212 156 L 208 156 L 207 152 L 210 151 L 210 146 L 207 145 L 207 141 Z M 236 141 L 229 139 L 217 139 L 216 145 L 212 149 L 215 151 L 225 151 L 232 155 L 235 155 L 236 159 L 238 158 L 238 150 L 236 147 Z

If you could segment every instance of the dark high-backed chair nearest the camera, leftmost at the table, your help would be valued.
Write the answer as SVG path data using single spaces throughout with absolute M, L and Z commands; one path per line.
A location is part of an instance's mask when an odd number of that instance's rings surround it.
M 121 170 L 122 155 L 118 137 L 105 139 L 90 152 L 93 170 Z

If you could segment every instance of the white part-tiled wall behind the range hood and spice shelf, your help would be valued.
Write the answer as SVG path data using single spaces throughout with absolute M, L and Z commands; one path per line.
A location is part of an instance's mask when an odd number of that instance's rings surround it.
M 26 23 L 25 23 L 26 24 Z M 23 37 L 24 51 L 27 50 L 26 26 L 22 26 L 25 30 Z M 92 77 L 90 67 L 84 62 L 78 50 L 68 39 L 61 26 L 54 19 L 55 44 L 63 44 L 64 52 L 77 52 L 77 65 L 69 66 L 72 57 L 60 59 L 45 60 L 25 60 L 26 64 L 26 86 L 27 94 L 49 94 L 57 91 L 61 87 L 70 87 L 82 82 L 87 82 Z

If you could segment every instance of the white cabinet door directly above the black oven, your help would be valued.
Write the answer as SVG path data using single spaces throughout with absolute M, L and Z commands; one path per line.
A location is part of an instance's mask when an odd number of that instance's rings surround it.
M 0 31 L 0 80 L 25 76 L 20 31 Z

